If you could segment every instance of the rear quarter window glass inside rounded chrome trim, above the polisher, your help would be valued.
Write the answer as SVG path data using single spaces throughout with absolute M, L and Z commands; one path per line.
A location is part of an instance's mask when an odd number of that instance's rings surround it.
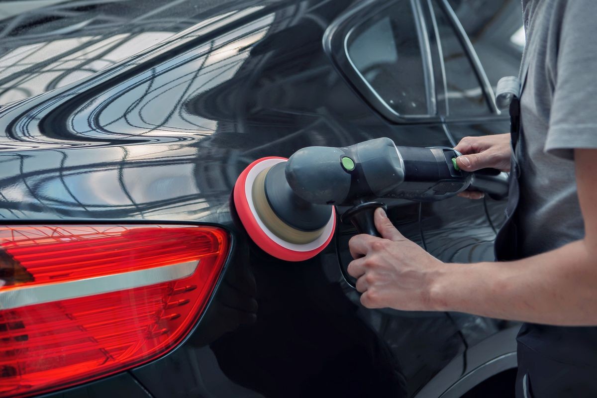
M 399 115 L 427 115 L 427 84 L 411 2 L 393 2 L 356 26 L 347 57 L 387 107 Z

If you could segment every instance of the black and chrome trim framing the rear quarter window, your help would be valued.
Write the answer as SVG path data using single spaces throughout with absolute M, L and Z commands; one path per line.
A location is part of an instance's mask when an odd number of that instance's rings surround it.
M 384 116 L 384 118 L 396 123 L 409 124 L 416 122 L 428 123 L 432 121 L 440 121 L 441 118 L 438 114 L 436 104 L 432 54 L 429 46 L 426 21 L 420 7 L 420 0 L 409 1 L 413 8 L 413 16 L 417 26 L 417 35 L 419 36 L 421 48 L 421 59 L 423 60 L 423 72 L 426 82 L 427 114 L 401 115 L 397 113 L 377 94 L 375 90 L 373 90 L 361 73 L 356 70 L 352 60 L 350 60 L 350 57 L 348 56 L 346 43 L 347 38 L 353 29 L 355 29 L 364 19 L 379 13 L 386 7 L 390 7 L 390 5 L 394 4 L 396 1 L 399 0 L 391 2 L 384 0 L 362 1 L 356 5 L 356 7 L 347 10 L 340 17 L 336 18 L 336 20 L 334 20 L 325 30 L 322 39 L 324 51 L 328 57 L 330 57 L 340 75 L 346 79 L 349 85 L 351 85 L 351 87 L 353 87 L 374 110 Z

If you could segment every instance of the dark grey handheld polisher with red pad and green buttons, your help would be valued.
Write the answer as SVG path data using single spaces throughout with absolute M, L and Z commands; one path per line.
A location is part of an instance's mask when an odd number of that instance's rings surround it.
M 508 176 L 496 169 L 458 168 L 448 147 L 396 146 L 376 138 L 349 147 L 306 147 L 289 159 L 251 163 L 239 176 L 233 200 L 248 235 L 265 252 L 286 261 L 314 257 L 336 229 L 335 206 L 359 233 L 379 236 L 373 221 L 380 198 L 433 202 L 465 189 L 507 196 Z

